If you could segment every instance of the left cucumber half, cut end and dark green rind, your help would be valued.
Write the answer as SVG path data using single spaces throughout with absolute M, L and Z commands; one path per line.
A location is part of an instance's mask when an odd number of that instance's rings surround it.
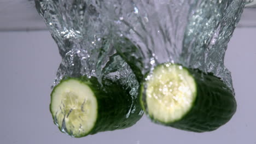
M 100 84 L 96 77 L 68 78 L 53 89 L 50 111 L 59 129 L 73 137 L 124 129 L 142 117 L 139 109 L 130 112 L 140 106 L 128 90 L 107 79 Z

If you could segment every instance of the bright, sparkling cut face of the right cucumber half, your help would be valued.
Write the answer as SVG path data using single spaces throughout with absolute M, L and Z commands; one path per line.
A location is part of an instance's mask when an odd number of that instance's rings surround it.
M 158 122 L 178 121 L 195 101 L 196 82 L 181 65 L 159 65 L 147 76 L 146 86 L 147 112 Z

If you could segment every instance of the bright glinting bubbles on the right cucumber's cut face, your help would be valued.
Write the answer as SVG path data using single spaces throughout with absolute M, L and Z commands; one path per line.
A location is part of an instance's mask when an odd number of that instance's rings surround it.
M 152 87 L 150 84 L 150 88 L 147 89 L 147 84 L 144 86 L 144 88 L 147 91 L 147 97 L 148 98 L 154 98 L 157 99 L 160 103 L 166 105 L 167 109 L 171 109 L 173 104 L 176 103 L 189 103 L 190 100 L 186 97 L 181 97 L 181 95 L 191 95 L 190 87 L 185 80 L 184 76 L 182 74 L 176 74 L 176 69 L 182 70 L 183 67 L 181 65 L 175 65 L 171 67 L 172 63 L 165 63 L 163 65 L 160 65 L 158 67 L 158 70 L 161 71 L 156 72 L 154 74 L 154 71 L 147 75 L 146 81 L 154 81 L 154 86 Z M 167 70 L 166 70 L 167 68 Z M 174 77 L 177 78 L 171 78 L 166 77 L 168 75 L 177 75 Z M 144 95 L 146 97 L 146 95 Z

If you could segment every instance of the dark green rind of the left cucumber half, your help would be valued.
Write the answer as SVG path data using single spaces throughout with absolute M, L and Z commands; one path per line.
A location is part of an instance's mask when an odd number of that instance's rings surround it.
M 131 127 L 139 119 L 141 119 L 142 115 L 140 115 L 141 107 L 139 105 L 139 100 L 131 97 L 129 94 L 130 89 L 124 89 L 119 85 L 119 83 L 114 83 L 108 79 L 103 80 L 102 85 L 100 85 L 96 77 L 91 77 L 90 79 L 86 77 L 81 77 L 79 79 L 68 78 L 66 80 L 69 79 L 76 79 L 88 85 L 92 92 L 94 92 L 98 105 L 97 120 L 94 127 L 89 131 L 89 133 L 74 137 L 84 137 L 87 135 L 96 134 L 100 131 L 125 129 Z M 61 82 L 66 80 L 62 80 Z M 51 99 L 53 97 L 55 88 L 51 93 Z M 130 113 L 130 116 L 126 118 L 126 114 L 129 112 L 130 107 L 133 105 L 136 106 L 136 110 L 133 113 Z M 54 115 L 51 110 L 51 104 L 50 111 L 54 119 Z M 60 127 L 59 129 L 61 130 Z M 68 131 L 66 132 L 69 135 L 72 135 L 72 133 Z

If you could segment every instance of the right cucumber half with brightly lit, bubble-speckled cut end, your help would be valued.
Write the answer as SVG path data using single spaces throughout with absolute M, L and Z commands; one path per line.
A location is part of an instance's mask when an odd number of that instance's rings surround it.
M 195 132 L 216 130 L 236 111 L 234 95 L 222 80 L 173 63 L 146 75 L 140 101 L 154 122 Z

